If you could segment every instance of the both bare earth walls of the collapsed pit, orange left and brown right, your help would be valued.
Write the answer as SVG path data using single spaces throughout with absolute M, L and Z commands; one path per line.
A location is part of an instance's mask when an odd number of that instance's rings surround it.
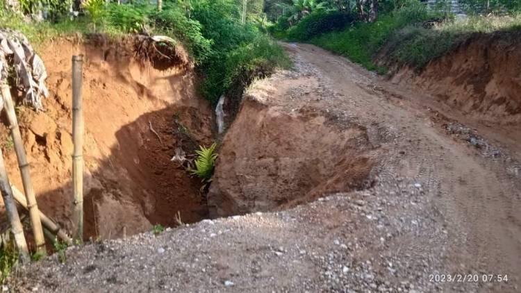
M 298 94 L 293 89 L 311 89 L 318 81 L 287 78 L 295 73 L 286 72 L 263 81 L 279 85 L 273 97 L 286 107 L 261 101 L 255 92 L 245 97 L 220 144 L 205 196 L 201 181 L 171 159 L 213 142 L 210 106 L 195 94 L 189 66 L 154 68 L 136 56 L 133 44 L 102 37 L 85 43 L 59 40 L 41 52 L 51 97 L 44 112 L 19 108 L 19 119 L 38 204 L 60 226 L 71 228 L 70 60 L 79 53 L 85 55 L 85 238 L 132 235 L 154 224 L 176 226 L 179 217 L 190 223 L 290 208 L 371 184 L 374 161 L 368 152 L 374 147 L 366 128 L 338 122 L 308 103 L 287 103 L 293 99 L 288 94 Z M 317 98 L 330 94 L 317 92 Z M 7 137 L 7 129 L 1 134 Z M 15 153 L 4 149 L 13 183 L 21 187 Z

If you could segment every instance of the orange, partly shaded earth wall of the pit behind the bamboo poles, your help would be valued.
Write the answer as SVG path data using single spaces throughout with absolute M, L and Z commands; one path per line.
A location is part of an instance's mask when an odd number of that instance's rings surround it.
M 19 108 L 40 209 L 69 227 L 71 56 L 83 53 L 85 237 L 174 226 L 177 211 L 187 222 L 206 217 L 199 181 L 170 162 L 177 147 L 190 153 L 212 137 L 212 112 L 195 94 L 192 70 L 183 62 L 166 70 L 147 66 L 135 57 L 134 42 L 99 36 L 86 43 L 62 39 L 45 48 L 39 53 L 49 74 L 46 110 Z M 6 128 L 0 134 L 9 142 Z M 3 147 L 10 177 L 21 187 L 12 146 Z

